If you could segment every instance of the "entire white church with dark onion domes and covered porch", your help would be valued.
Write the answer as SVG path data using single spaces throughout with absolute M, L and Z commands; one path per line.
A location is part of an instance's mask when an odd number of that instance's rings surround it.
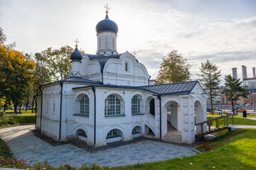
M 96 31 L 97 53 L 81 54 L 76 45 L 69 77 L 41 86 L 38 130 L 95 147 L 139 136 L 193 143 L 201 130 L 195 123 L 206 120 L 198 81 L 154 85 L 134 55 L 117 52 L 118 27 L 107 14 Z

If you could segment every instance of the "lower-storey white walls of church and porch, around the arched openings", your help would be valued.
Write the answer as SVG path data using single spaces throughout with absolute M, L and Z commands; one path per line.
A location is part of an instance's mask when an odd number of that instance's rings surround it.
M 155 137 L 160 137 L 160 103 L 159 98 L 146 91 L 135 91 L 132 89 L 112 89 L 97 87 L 96 106 L 94 103 L 94 93 L 91 87 L 73 90 L 74 87 L 84 87 L 85 84 L 72 84 L 65 82 L 63 84 L 63 103 L 61 118 L 61 138 L 60 140 L 70 140 L 78 137 L 75 134 L 77 130 L 82 129 L 86 132 L 87 138 L 81 139 L 87 142 L 87 145 L 94 144 L 94 109 L 96 108 L 96 146 L 106 145 L 107 133 L 116 129 L 122 135 L 119 140 L 132 140 L 137 135 L 132 135 L 132 129 L 139 126 L 142 129 L 140 135 L 146 134 L 146 126 L 149 127 Z M 169 103 L 176 103 L 179 106 L 176 109 L 177 115 L 173 119 L 177 120 L 176 128 L 181 130 L 182 142 L 192 143 L 195 140 L 195 122 L 194 111 L 195 103 L 200 102 L 203 109 L 199 114 L 199 119 L 206 120 L 206 95 L 198 84 L 188 95 L 165 95 L 161 96 L 161 137 L 167 132 L 167 111 L 166 106 Z M 107 117 L 105 116 L 105 98 L 114 94 L 121 99 L 122 116 Z M 82 95 L 87 95 L 90 99 L 90 115 L 88 117 L 74 115 L 79 113 L 79 101 Z M 132 97 L 137 95 L 141 101 L 142 115 L 132 115 Z M 149 113 L 149 102 L 154 98 L 155 116 Z M 37 127 L 40 127 L 41 102 L 38 98 L 38 117 Z M 48 109 L 47 109 L 48 103 Z M 55 111 L 53 111 L 55 103 Z M 174 112 L 174 111 L 173 111 Z M 51 84 L 43 87 L 43 108 L 42 108 L 42 128 L 41 132 L 58 140 L 60 125 L 60 84 Z M 198 115 L 198 114 L 196 114 Z M 206 128 L 206 127 L 205 127 Z

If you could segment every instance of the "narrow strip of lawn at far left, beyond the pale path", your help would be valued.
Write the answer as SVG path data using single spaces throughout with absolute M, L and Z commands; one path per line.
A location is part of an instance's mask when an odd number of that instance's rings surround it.
M 33 124 L 35 121 L 35 115 L 4 115 L 0 117 L 0 128 L 14 125 Z

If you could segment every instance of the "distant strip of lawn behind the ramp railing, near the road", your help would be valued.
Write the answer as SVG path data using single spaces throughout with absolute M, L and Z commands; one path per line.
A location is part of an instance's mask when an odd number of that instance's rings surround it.
M 207 117 L 207 120 L 214 119 L 216 117 Z M 213 120 L 212 125 L 216 125 L 216 121 Z M 220 127 L 224 125 L 224 119 L 219 120 Z M 232 118 L 228 118 L 228 125 L 232 125 Z M 256 125 L 256 120 L 250 120 L 246 118 L 234 118 L 234 125 Z

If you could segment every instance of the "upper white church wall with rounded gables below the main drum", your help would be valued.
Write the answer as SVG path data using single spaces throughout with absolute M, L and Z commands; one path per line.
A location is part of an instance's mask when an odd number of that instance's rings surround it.
M 126 63 L 127 70 L 125 70 Z M 97 60 L 89 60 L 87 55 L 82 57 L 80 74 L 85 79 L 102 81 L 99 62 Z M 125 52 L 119 57 L 119 60 L 107 60 L 103 69 L 103 83 L 122 86 L 146 86 L 149 84 L 149 75 L 142 63 L 137 62 L 129 52 Z

